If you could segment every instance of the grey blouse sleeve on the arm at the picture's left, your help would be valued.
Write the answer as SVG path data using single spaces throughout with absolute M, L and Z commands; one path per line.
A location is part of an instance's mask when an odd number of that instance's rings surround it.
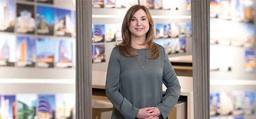
M 122 94 L 119 93 L 119 75 L 120 62 L 114 48 L 108 63 L 108 71 L 106 77 L 106 95 L 112 102 L 113 106 L 125 117 L 125 119 L 135 119 L 140 109 L 135 108 Z

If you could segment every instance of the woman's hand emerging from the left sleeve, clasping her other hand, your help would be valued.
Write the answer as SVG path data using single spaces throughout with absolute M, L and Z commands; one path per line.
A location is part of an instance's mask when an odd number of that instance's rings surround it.
M 157 115 L 159 113 L 147 113 L 146 112 L 148 110 L 152 110 L 153 108 L 154 107 L 140 109 L 136 118 L 138 118 L 138 119 L 159 119 L 158 117 L 154 117 L 155 115 Z

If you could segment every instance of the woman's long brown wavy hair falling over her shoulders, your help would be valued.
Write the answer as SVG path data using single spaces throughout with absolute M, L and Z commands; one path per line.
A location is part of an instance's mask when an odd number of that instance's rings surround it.
M 119 47 L 119 52 L 123 57 L 131 57 L 139 54 L 137 50 L 133 50 L 131 47 L 131 33 L 129 31 L 128 26 L 131 22 L 134 13 L 140 9 L 143 9 L 148 16 L 149 30 L 146 33 L 145 42 L 139 45 L 147 45 L 147 48 L 145 49 L 149 49 L 150 52 L 148 58 L 157 59 L 157 57 L 159 57 L 159 51 L 157 45 L 154 44 L 154 22 L 148 8 L 146 8 L 145 6 L 134 5 L 128 9 L 122 23 L 122 42 L 116 46 Z

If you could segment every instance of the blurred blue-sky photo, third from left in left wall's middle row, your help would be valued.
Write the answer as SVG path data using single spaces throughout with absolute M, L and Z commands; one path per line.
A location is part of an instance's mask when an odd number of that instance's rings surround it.
M 47 48 L 45 48 L 47 46 Z M 36 40 L 37 66 L 44 68 L 54 67 L 55 39 L 38 38 Z

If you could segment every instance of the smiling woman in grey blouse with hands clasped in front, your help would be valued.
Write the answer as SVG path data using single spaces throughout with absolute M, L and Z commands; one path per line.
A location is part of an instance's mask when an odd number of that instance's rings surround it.
M 161 45 L 155 44 L 148 8 L 129 8 L 122 23 L 122 42 L 111 52 L 106 94 L 112 119 L 166 119 L 180 96 L 180 83 Z M 163 97 L 162 83 L 167 87 Z

